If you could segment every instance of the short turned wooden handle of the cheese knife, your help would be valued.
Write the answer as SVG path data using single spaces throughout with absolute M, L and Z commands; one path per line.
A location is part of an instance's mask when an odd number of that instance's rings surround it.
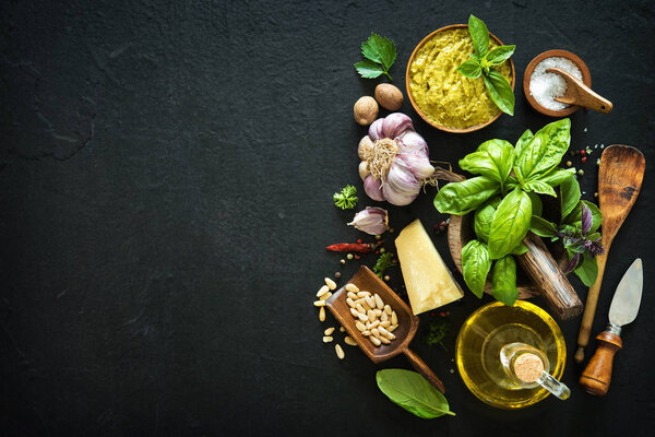
M 580 377 L 580 385 L 587 393 L 605 395 L 611 381 L 614 356 L 623 347 L 619 335 L 603 331 L 596 336 L 598 347 Z

